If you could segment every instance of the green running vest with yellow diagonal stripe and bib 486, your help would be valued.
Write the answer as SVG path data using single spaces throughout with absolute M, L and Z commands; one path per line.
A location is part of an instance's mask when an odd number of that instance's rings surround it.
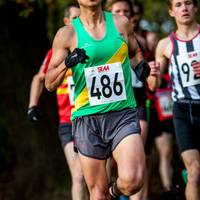
M 72 21 L 77 48 L 89 59 L 72 68 L 75 84 L 72 120 L 76 117 L 135 108 L 131 86 L 131 68 L 127 42 L 118 33 L 113 16 L 104 12 L 106 33 L 100 40 L 92 38 L 77 17 Z

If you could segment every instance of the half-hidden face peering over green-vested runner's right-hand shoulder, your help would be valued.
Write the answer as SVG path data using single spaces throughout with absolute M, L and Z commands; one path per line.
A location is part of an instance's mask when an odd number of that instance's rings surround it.
M 131 11 L 128 3 L 125 1 L 119 1 L 112 5 L 111 12 L 117 15 L 126 16 L 128 19 L 131 17 Z

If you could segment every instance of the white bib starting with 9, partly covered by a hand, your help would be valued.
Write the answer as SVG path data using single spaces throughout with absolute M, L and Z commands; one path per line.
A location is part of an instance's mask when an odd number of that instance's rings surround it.
M 200 52 L 189 52 L 177 56 L 178 66 L 183 87 L 200 84 L 200 77 L 196 77 L 192 63 L 200 61 Z

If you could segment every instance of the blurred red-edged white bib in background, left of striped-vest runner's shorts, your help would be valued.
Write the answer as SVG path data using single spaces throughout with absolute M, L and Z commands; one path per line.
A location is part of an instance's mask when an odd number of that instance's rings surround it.
M 172 90 L 169 88 L 156 90 L 156 110 L 160 121 L 172 119 Z

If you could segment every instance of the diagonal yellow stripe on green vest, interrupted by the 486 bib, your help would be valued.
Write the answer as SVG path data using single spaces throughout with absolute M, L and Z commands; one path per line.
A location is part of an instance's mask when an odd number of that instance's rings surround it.
M 127 54 L 128 54 L 128 47 L 127 44 L 123 42 L 120 48 L 116 51 L 116 53 L 106 63 L 108 64 L 115 62 L 123 63 L 127 57 Z M 87 87 L 85 86 L 82 92 L 75 100 L 75 110 L 78 110 L 80 107 L 84 106 L 88 102 L 89 102 L 88 90 Z

